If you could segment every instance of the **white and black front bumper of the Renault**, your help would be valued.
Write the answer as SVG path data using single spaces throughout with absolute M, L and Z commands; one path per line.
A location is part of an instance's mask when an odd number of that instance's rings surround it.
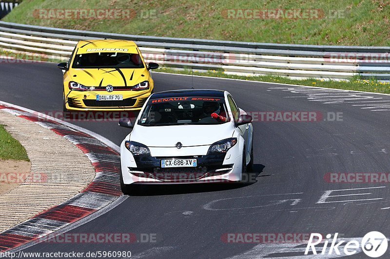
M 134 157 L 120 145 L 122 179 L 125 185 L 137 184 L 188 184 L 231 183 L 241 180 L 243 141 L 238 141 L 226 154 L 207 155 L 210 146 L 177 148 L 150 148 L 150 157 Z M 161 169 L 161 158 L 194 158 L 195 168 Z M 225 170 L 223 170 L 225 169 Z

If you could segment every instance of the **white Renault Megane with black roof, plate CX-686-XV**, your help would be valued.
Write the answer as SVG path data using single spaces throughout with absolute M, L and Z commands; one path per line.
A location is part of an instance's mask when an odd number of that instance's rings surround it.
M 242 182 L 253 167 L 252 117 L 221 90 L 152 94 L 120 145 L 121 188 L 137 184 Z

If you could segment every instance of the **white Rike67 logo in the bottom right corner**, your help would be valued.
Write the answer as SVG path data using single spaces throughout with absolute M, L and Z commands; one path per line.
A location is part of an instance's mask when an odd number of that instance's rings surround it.
M 351 256 L 360 253 L 363 250 L 363 252 L 367 256 L 371 258 L 377 258 L 383 256 L 387 251 L 388 240 L 385 237 L 385 235 L 383 235 L 381 232 L 377 232 L 377 231 L 369 232 L 363 238 L 359 238 L 361 242 L 353 239 L 350 240 L 349 242 L 347 242 L 345 239 L 338 240 L 337 236 L 338 233 L 335 233 L 333 239 L 330 240 L 331 234 L 328 234 L 326 235 L 327 240 L 325 240 L 325 242 L 322 242 L 321 234 L 312 233 L 309 238 L 309 243 L 306 246 L 305 255 L 312 253 L 313 255 L 328 254 L 328 255 L 338 255 L 338 256 L 340 255 Z M 328 249 L 328 244 L 330 244 L 329 249 Z M 316 249 L 320 249 L 320 251 L 317 251 Z

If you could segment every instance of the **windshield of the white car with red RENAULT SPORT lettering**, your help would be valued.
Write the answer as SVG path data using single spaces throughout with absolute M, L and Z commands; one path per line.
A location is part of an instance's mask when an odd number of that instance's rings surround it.
M 221 124 L 230 121 L 225 100 L 211 97 L 177 97 L 150 100 L 138 124 L 166 126 Z

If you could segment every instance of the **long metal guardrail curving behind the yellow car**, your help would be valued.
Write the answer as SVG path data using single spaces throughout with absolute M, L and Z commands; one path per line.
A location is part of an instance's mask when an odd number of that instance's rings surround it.
M 390 80 L 390 47 L 316 46 L 123 35 L 0 21 L 0 48 L 66 59 L 78 40 L 128 39 L 147 62 L 176 69 L 293 78 Z

